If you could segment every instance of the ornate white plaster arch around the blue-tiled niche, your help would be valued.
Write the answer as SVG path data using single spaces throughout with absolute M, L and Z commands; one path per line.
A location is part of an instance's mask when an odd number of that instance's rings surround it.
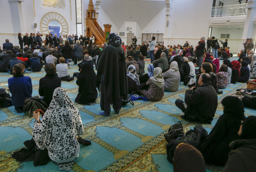
M 42 34 L 49 34 L 49 22 L 56 20 L 61 25 L 61 35 L 69 33 L 69 25 L 67 20 L 58 12 L 47 12 L 40 20 L 40 30 Z

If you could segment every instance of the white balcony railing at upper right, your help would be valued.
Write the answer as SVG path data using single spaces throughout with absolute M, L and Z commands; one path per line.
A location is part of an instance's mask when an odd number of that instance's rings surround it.
M 247 3 L 213 7 L 211 9 L 211 17 L 222 17 L 222 16 L 239 16 L 247 14 Z

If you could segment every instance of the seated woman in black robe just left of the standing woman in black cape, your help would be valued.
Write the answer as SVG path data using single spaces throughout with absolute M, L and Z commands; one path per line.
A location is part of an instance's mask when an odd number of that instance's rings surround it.
M 79 104 L 95 105 L 98 92 L 96 89 L 96 74 L 89 63 L 84 63 L 77 78 L 79 86 L 75 102 Z

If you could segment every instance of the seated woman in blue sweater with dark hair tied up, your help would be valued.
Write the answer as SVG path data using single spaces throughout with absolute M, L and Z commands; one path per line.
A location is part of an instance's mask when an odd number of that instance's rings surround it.
M 32 82 L 29 76 L 24 76 L 25 66 L 18 63 L 13 66 L 13 77 L 8 79 L 11 92 L 11 103 L 18 113 L 22 112 L 26 97 L 32 97 Z

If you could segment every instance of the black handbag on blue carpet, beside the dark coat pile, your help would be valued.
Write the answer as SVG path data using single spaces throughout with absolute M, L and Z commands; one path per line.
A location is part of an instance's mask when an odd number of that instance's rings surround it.
M 178 137 L 184 136 L 183 126 L 181 124 L 181 121 L 178 121 L 176 124 L 172 125 L 169 128 L 167 134 L 164 134 L 163 136 L 165 136 L 165 139 L 167 142 L 170 142 Z

